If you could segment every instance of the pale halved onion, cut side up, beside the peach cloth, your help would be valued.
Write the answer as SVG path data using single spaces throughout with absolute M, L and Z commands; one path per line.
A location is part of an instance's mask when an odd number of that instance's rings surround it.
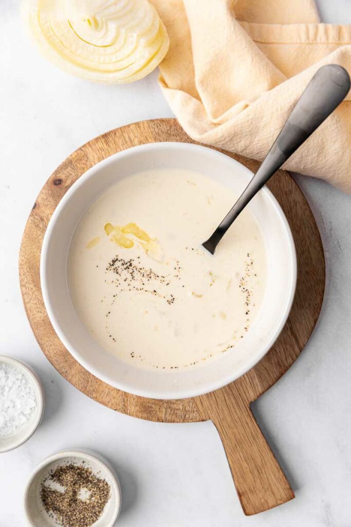
M 166 28 L 147 0 L 24 0 L 22 9 L 44 56 L 89 81 L 137 81 L 168 51 Z

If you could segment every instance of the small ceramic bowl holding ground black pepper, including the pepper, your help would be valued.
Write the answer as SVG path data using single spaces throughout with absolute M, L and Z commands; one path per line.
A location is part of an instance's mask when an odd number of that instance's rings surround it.
M 47 457 L 24 491 L 32 527 L 113 527 L 121 511 L 121 487 L 111 464 L 89 451 Z

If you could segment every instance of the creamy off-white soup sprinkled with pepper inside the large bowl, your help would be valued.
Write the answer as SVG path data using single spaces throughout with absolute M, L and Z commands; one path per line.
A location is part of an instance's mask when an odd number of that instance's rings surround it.
M 235 353 L 263 300 L 263 235 L 245 210 L 214 256 L 201 246 L 235 200 L 213 179 L 179 169 L 132 175 L 96 199 L 72 239 L 68 285 L 103 348 L 148 369 Z

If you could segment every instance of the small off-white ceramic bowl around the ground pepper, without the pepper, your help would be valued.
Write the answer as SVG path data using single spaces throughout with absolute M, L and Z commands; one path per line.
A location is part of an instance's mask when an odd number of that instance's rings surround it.
M 113 527 L 121 511 L 121 487 L 113 467 L 105 458 L 89 451 L 65 450 L 47 457 L 39 464 L 24 490 L 24 514 L 28 525 L 32 527 L 57 527 L 57 523 L 44 510 L 40 492 L 43 480 L 49 472 L 55 470 L 62 462 L 79 464 L 84 461 L 85 467 L 92 469 L 94 474 L 106 480 L 111 489 L 111 495 L 105 505 L 101 517 L 94 527 Z

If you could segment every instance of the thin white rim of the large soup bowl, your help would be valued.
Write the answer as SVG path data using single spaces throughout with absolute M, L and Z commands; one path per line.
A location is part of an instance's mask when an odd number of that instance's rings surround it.
M 59 218 L 62 210 L 66 206 L 66 204 L 71 199 L 71 196 L 79 189 L 81 186 L 84 185 L 85 181 L 93 178 L 96 173 L 98 173 L 101 169 L 103 169 L 105 166 L 111 164 L 114 162 L 115 159 L 122 159 L 123 157 L 126 157 L 128 155 L 133 154 L 135 151 L 153 151 L 158 149 L 165 149 L 165 148 L 171 148 L 175 150 L 180 149 L 186 149 L 188 151 L 199 151 L 199 150 L 206 150 L 207 153 L 210 153 L 210 155 L 213 155 L 213 157 L 217 157 L 219 160 L 226 160 L 230 163 L 233 163 L 233 165 L 239 165 L 240 170 L 244 170 L 249 174 L 254 175 L 254 173 L 249 170 L 247 167 L 245 167 L 244 164 L 240 163 L 239 161 L 233 159 L 229 155 L 220 152 L 218 150 L 206 147 L 204 145 L 199 144 L 193 144 L 193 143 L 184 143 L 184 142 L 177 142 L 177 141 L 169 141 L 169 142 L 154 142 L 154 143 L 146 143 L 141 145 L 136 145 L 135 147 L 131 147 L 119 152 L 116 152 L 112 155 L 109 155 L 107 158 L 103 159 L 102 161 L 99 161 L 98 163 L 94 164 L 91 168 L 89 168 L 86 172 L 84 172 L 73 184 L 72 186 L 67 190 L 67 192 L 64 194 L 64 196 L 61 198 L 59 203 L 57 204 L 52 217 L 49 219 L 47 229 L 44 235 L 43 244 L 42 244 L 42 250 L 41 250 L 41 259 L 40 259 L 40 281 L 41 281 L 41 289 L 42 289 L 42 295 L 44 300 L 45 309 L 47 311 L 47 315 L 49 317 L 49 320 L 51 321 L 51 324 L 55 330 L 55 333 L 57 334 L 59 340 L 61 340 L 62 344 L 65 346 L 65 348 L 68 350 L 68 352 L 74 357 L 75 360 L 79 364 L 81 364 L 89 373 L 96 376 L 97 378 L 101 379 L 103 382 L 108 384 L 109 386 L 115 387 L 123 392 L 127 392 L 129 394 L 133 394 L 140 397 L 146 397 L 146 398 L 153 398 L 153 399 L 185 399 L 190 397 L 196 397 L 199 395 L 204 395 L 206 393 L 210 393 L 212 391 L 215 391 L 216 389 L 222 388 L 226 386 L 227 384 L 230 384 L 234 380 L 238 379 L 242 375 L 246 374 L 251 368 L 253 368 L 265 355 L 268 353 L 269 349 L 274 345 L 276 339 L 282 332 L 286 321 L 288 319 L 290 310 L 293 305 L 294 297 L 295 297 L 295 291 L 296 291 L 296 282 L 297 282 L 297 257 L 296 257 L 296 248 L 295 248 L 295 242 L 292 235 L 292 231 L 290 229 L 289 223 L 287 221 L 287 218 L 283 212 L 283 209 L 280 207 L 279 202 L 273 195 L 273 193 L 268 189 L 268 187 L 264 186 L 262 189 L 259 190 L 260 193 L 263 193 L 265 198 L 270 202 L 270 205 L 275 209 L 280 222 L 282 223 L 282 226 L 285 231 L 287 245 L 288 245 L 288 252 L 289 252 L 289 261 L 292 269 L 292 274 L 290 277 L 290 288 L 288 291 L 288 296 L 285 300 L 285 309 L 282 315 L 280 316 L 280 323 L 277 326 L 275 333 L 271 336 L 271 338 L 267 341 L 266 345 L 263 346 L 262 352 L 259 355 L 256 355 L 252 358 L 252 360 L 249 360 L 245 366 L 240 368 L 235 374 L 227 375 L 227 377 L 224 379 L 218 379 L 217 382 L 212 382 L 212 384 L 206 388 L 199 389 L 198 386 L 194 386 L 193 389 L 187 389 L 185 392 L 185 389 L 180 391 L 172 391 L 172 387 L 169 388 L 169 391 L 167 393 L 163 393 L 162 397 L 158 394 L 152 393 L 151 390 L 145 390 L 145 389 L 138 389 L 134 388 L 131 389 L 131 386 L 128 385 L 128 383 L 123 382 L 112 382 L 112 379 L 109 378 L 106 374 L 101 374 L 100 372 L 96 372 L 96 369 L 94 366 L 92 366 L 87 360 L 82 358 L 77 352 L 77 350 L 74 348 L 74 346 L 71 346 L 71 343 L 66 338 L 64 330 L 61 328 L 61 326 L 58 323 L 58 320 L 56 318 L 54 309 L 52 308 L 51 301 L 49 299 L 48 294 L 48 285 L 47 285 L 47 277 L 46 277 L 46 261 L 48 257 L 48 250 L 51 242 L 52 233 L 55 227 L 56 220 Z M 118 384 L 118 386 L 117 386 Z M 209 383 L 208 383 L 209 384 Z

